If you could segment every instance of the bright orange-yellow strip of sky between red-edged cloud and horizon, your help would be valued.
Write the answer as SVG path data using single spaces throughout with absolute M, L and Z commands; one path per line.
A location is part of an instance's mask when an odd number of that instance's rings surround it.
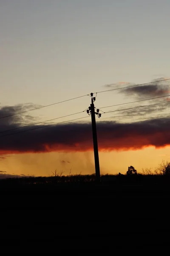
M 166 148 L 144 148 L 141 150 L 99 152 L 101 174 L 124 174 L 128 166 L 134 166 L 138 172 L 142 168 L 154 168 L 162 159 L 170 161 L 170 146 Z M 15 175 L 50 176 L 64 171 L 63 175 L 92 174 L 94 168 L 93 151 L 85 152 L 49 152 L 7 155 L 0 160 L 0 170 Z

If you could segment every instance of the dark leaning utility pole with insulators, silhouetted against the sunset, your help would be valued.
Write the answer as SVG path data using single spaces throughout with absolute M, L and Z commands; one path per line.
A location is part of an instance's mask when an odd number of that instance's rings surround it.
M 96 181 L 100 181 L 100 166 L 99 166 L 99 152 L 98 152 L 98 143 L 97 143 L 97 131 L 96 131 L 96 117 L 100 118 L 102 115 L 99 113 L 99 109 L 95 112 L 94 101 L 96 97 L 93 97 L 93 93 L 91 93 L 91 105 L 87 110 L 88 115 L 91 115 L 91 124 L 92 124 L 92 132 L 93 132 L 93 145 L 94 145 L 94 162 L 95 162 L 95 170 L 96 170 Z

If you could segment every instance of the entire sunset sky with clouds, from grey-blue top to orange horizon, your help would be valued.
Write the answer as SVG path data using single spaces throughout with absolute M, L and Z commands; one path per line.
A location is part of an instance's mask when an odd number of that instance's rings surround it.
M 94 173 L 88 94 L 170 78 L 169 9 L 169 0 L 0 0 L 0 117 L 85 95 L 1 118 L 0 177 Z M 102 174 L 170 160 L 169 94 L 169 81 L 94 94 Z

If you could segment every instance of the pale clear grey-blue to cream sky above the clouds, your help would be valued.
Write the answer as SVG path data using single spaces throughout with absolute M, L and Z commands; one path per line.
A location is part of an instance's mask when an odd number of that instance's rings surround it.
M 169 78 L 169 10 L 169 0 L 1 0 L 1 106 L 48 105 L 105 84 Z M 101 93 L 96 105 L 131 100 Z M 89 104 L 87 96 L 31 114 L 46 120 Z

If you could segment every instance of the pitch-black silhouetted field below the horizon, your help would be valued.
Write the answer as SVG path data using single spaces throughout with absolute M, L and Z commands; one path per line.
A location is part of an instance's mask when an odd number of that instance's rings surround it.
M 65 178 L 66 179 L 66 178 Z M 0 180 L 2 252 L 166 248 L 170 178 L 94 176 Z

